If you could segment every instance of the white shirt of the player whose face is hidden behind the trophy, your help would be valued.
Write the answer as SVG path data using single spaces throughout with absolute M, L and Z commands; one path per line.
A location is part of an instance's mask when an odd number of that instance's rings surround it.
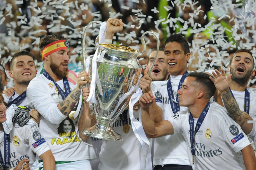
M 139 118 L 139 112 L 134 112 L 136 119 Z M 127 114 L 127 121 L 130 127 L 126 134 L 123 131 L 123 122 L 120 117 L 113 123 L 113 129 L 118 134 L 121 134 L 122 141 L 107 141 L 102 140 L 101 152 L 99 154 L 100 163 L 98 170 L 140 170 L 139 162 L 139 148 L 140 142 L 135 136 L 129 111 Z M 141 160 L 145 162 L 145 155 L 141 152 Z

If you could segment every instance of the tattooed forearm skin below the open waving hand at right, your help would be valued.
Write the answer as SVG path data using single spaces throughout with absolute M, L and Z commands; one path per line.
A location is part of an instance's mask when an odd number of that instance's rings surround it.
M 233 98 L 230 91 L 221 93 L 221 96 L 230 117 L 242 127 L 245 121 L 249 120 L 249 114 L 240 110 L 236 100 Z

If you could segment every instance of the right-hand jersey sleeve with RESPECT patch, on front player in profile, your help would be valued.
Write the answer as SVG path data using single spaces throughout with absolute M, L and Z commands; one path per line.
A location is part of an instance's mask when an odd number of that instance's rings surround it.
M 250 144 L 248 137 L 242 131 L 239 124 L 233 121 L 226 113 L 222 115 L 220 131 L 223 134 L 223 138 L 235 152 L 239 152 Z

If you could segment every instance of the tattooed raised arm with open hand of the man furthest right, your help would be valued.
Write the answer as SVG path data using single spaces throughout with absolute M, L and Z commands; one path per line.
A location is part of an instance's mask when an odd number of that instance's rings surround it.
M 241 126 L 245 134 L 249 134 L 253 129 L 253 124 L 248 124 L 247 121 L 253 119 L 245 111 L 240 110 L 236 100 L 230 93 L 229 85 L 230 78 L 232 75 L 229 74 L 228 77 L 226 78 L 223 69 L 221 69 L 221 73 L 217 69 L 215 70 L 215 72 L 217 73 L 215 74 L 213 72 L 213 76 L 215 79 L 213 79 L 212 77 L 210 77 L 210 79 L 214 82 L 214 85 L 220 91 L 223 104 L 228 114 L 234 121 L 236 121 L 236 123 L 238 123 Z

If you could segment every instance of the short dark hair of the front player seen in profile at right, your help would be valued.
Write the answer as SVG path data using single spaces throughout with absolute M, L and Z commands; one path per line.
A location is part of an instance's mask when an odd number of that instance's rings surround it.
M 203 86 L 206 89 L 206 97 L 207 98 L 211 98 L 215 91 L 216 91 L 216 87 L 214 85 L 214 83 L 211 81 L 211 79 L 209 77 L 212 77 L 212 75 L 206 74 L 204 72 L 190 72 L 187 77 L 194 77 L 196 78 L 195 82 L 197 82 L 198 84 L 200 84 L 201 86 Z

